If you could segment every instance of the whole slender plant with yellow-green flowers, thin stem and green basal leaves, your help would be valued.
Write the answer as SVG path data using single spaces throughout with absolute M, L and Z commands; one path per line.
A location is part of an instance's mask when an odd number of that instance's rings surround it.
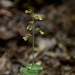
M 32 30 L 32 35 L 28 34 L 27 36 L 23 37 L 24 41 L 27 41 L 30 36 L 33 37 L 33 63 L 32 64 L 25 64 L 25 67 L 20 68 L 20 72 L 23 75 L 37 75 L 36 71 L 43 70 L 43 67 L 37 64 L 34 64 L 34 19 L 37 18 L 38 20 L 42 20 L 42 18 L 39 15 L 34 15 L 34 11 L 29 9 L 26 10 L 25 13 L 32 14 L 32 21 L 29 21 L 29 25 L 27 26 L 27 30 Z M 37 28 L 36 31 L 39 31 L 41 35 L 44 34 L 40 28 Z

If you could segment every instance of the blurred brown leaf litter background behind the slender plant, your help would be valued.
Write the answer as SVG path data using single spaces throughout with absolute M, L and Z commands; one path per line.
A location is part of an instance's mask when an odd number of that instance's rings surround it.
M 44 70 L 38 75 L 75 75 L 75 0 L 0 0 L 0 75 L 22 75 L 32 63 L 32 38 L 22 39 L 32 9 L 43 20 L 35 21 L 35 63 Z

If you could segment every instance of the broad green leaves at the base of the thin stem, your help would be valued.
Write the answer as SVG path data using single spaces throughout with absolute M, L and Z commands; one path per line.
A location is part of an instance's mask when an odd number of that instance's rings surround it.
M 33 66 L 33 67 L 32 67 Z M 35 71 L 40 71 L 43 70 L 43 67 L 37 64 L 25 64 L 25 67 L 20 68 L 20 72 L 23 75 L 37 75 L 37 72 Z

